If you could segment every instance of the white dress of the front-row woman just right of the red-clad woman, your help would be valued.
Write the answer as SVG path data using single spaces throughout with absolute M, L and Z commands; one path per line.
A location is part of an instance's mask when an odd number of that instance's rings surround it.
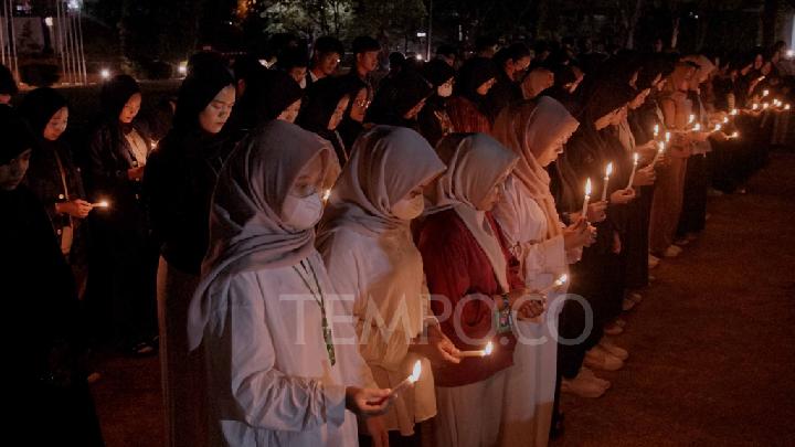
M 541 290 L 568 272 L 563 236 L 547 238 L 547 217 L 524 185 L 506 183 L 502 200 L 494 210 L 511 253 L 521 264 L 527 287 Z M 562 295 L 550 295 L 548 311 L 538 322 L 517 321 L 518 343 L 513 368 L 508 370 L 502 446 L 545 446 L 552 421 L 556 380 L 558 316 Z

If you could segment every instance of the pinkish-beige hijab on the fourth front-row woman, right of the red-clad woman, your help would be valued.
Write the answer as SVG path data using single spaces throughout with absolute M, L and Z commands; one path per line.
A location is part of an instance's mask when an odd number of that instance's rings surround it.
M 550 192 L 550 177 L 537 159 L 552 145 L 565 142 L 580 123 L 555 99 L 542 96 L 507 107 L 497 117 L 492 135 L 519 156 L 513 177 L 530 192 L 547 216 L 547 236 L 561 234 L 560 216 Z

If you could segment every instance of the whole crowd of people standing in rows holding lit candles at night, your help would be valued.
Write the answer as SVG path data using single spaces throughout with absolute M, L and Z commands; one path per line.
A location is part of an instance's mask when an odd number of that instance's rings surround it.
M 21 414 L 102 445 L 85 348 L 112 345 L 159 352 L 170 446 L 544 446 L 560 393 L 629 361 L 623 316 L 708 196 L 787 140 L 785 46 L 484 39 L 386 74 L 368 36 L 344 74 L 333 38 L 203 52 L 148 117 L 131 76 L 105 82 L 70 141 L 62 93 L 3 67 Z

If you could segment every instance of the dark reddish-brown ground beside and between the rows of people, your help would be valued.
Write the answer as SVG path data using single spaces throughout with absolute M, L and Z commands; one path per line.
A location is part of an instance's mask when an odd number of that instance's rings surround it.
M 598 400 L 564 398 L 555 446 L 795 445 L 795 156 L 710 203 L 702 238 L 654 270 Z M 95 398 L 109 447 L 159 446 L 156 358 L 106 359 Z M 446 446 L 445 446 L 446 447 Z

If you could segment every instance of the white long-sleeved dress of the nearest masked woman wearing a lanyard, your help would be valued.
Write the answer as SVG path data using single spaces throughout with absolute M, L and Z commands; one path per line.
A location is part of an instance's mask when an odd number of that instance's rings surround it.
M 210 445 L 356 446 L 356 416 L 346 411 L 344 376 L 361 362 L 356 334 L 320 255 L 306 260 L 326 297 L 337 362 L 330 364 L 321 311 L 294 267 L 245 272 L 216 281 L 209 294 L 226 294 L 204 330 L 209 369 Z M 312 288 L 311 274 L 308 280 Z

